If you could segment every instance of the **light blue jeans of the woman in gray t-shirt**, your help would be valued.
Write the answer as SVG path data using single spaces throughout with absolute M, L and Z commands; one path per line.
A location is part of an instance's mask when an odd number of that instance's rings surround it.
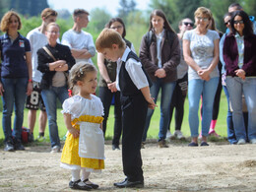
M 202 113 L 202 136 L 208 136 L 210 124 L 212 121 L 213 104 L 219 77 L 212 78 L 209 81 L 193 79 L 188 82 L 188 100 L 189 100 L 189 127 L 191 137 L 198 137 L 199 118 L 198 109 L 200 96 L 203 96 L 203 113 Z

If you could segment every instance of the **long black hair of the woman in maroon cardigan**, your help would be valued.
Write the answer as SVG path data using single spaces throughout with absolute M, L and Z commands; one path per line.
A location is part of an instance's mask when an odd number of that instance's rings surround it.
M 243 29 L 243 35 L 244 36 L 249 36 L 253 34 L 253 29 L 252 29 L 252 22 L 249 19 L 249 16 L 244 12 L 244 11 L 235 11 L 232 13 L 232 18 L 230 21 L 231 25 L 231 31 L 233 34 L 235 34 L 236 30 L 234 29 L 234 18 L 235 16 L 240 16 L 242 18 L 243 24 L 244 24 L 244 29 Z

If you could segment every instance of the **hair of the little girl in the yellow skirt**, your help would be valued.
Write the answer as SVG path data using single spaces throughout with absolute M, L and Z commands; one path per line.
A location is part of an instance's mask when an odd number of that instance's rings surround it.
M 90 72 L 96 72 L 96 67 L 91 63 L 79 62 L 71 68 L 69 73 L 69 89 L 72 91 L 73 96 L 77 94 L 75 87 L 78 81 L 83 81 Z

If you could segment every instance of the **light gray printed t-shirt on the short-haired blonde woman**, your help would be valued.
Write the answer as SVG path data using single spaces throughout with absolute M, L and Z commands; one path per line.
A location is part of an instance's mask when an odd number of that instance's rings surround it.
M 190 50 L 192 58 L 202 69 L 207 69 L 214 58 L 214 41 L 220 38 L 218 32 L 208 30 L 206 34 L 199 35 L 195 29 L 184 33 L 183 39 L 190 41 Z M 210 74 L 211 78 L 219 77 L 218 66 Z M 188 68 L 188 80 L 201 79 L 197 72 L 189 66 Z

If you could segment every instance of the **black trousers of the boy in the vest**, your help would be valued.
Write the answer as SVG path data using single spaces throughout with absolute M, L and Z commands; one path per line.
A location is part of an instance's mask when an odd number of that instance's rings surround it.
M 129 181 L 143 181 L 141 142 L 148 102 L 142 94 L 121 96 L 123 117 L 123 172 Z

